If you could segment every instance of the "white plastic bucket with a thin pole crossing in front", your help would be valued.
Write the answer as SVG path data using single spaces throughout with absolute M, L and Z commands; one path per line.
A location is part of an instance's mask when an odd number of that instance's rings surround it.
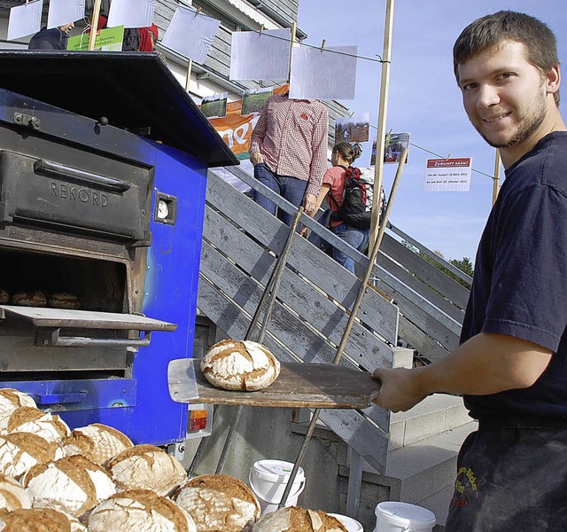
M 259 460 L 252 465 L 248 481 L 258 498 L 262 515 L 277 510 L 292 469 L 293 464 L 283 460 Z M 305 489 L 305 472 L 299 467 L 285 505 L 297 505 L 303 489 Z

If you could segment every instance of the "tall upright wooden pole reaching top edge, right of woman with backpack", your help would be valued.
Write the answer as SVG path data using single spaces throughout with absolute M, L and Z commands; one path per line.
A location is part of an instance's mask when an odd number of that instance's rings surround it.
M 387 0 L 384 26 L 384 51 L 382 54 L 382 78 L 380 82 L 380 103 L 378 106 L 378 130 L 376 141 L 376 164 L 374 166 L 374 197 L 378 198 L 372 206 L 372 225 L 370 227 L 370 248 L 377 240 L 380 216 L 380 195 L 384 176 L 384 142 L 386 134 L 386 114 L 388 111 L 388 90 L 390 87 L 390 62 L 392 60 L 393 2 Z

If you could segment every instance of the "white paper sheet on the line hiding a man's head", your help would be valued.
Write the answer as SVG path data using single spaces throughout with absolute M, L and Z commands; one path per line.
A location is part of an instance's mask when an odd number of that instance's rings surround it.
M 358 46 L 294 46 L 290 98 L 354 99 Z

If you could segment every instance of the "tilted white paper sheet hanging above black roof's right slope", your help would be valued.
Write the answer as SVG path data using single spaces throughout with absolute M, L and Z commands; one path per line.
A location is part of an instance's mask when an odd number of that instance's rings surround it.
M 203 63 L 220 24 L 221 20 L 200 13 L 195 15 L 194 11 L 179 6 L 161 43 L 184 58 Z

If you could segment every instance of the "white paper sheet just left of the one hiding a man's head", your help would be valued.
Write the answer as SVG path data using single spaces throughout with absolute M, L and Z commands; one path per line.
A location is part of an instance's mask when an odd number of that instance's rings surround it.
M 290 70 L 291 29 L 235 31 L 230 48 L 231 80 L 286 80 Z

